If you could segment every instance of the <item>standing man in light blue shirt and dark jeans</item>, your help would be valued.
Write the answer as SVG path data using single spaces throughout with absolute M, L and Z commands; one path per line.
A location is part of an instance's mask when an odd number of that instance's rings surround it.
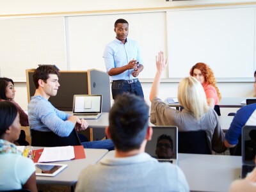
M 115 99 L 116 95 L 123 92 L 144 97 L 137 78 L 143 70 L 140 46 L 127 38 L 129 24 L 126 20 L 116 20 L 114 31 L 116 38 L 106 46 L 103 54 L 106 70 L 112 81 L 112 97 Z

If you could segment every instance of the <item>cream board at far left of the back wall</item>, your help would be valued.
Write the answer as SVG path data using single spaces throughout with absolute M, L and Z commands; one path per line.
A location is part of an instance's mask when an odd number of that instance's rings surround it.
M 0 76 L 25 82 L 38 64 L 67 70 L 64 17 L 0 19 Z

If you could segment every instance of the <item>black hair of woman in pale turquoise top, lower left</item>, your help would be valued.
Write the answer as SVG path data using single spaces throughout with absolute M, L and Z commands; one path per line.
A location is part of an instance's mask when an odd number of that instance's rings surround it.
M 0 137 L 13 124 L 17 115 L 15 104 L 8 100 L 0 101 Z

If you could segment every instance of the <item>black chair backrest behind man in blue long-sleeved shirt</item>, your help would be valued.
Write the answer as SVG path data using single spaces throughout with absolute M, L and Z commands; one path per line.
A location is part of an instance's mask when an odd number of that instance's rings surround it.
M 76 129 L 67 137 L 60 137 L 54 132 L 35 131 L 31 129 L 31 145 L 38 147 L 61 147 L 68 145 L 81 145 Z

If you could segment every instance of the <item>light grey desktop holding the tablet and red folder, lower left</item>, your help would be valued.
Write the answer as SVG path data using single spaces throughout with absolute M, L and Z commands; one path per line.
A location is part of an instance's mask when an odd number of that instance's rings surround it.
M 42 147 L 34 147 L 39 149 Z M 71 161 L 58 161 L 54 163 L 68 164 L 67 168 L 60 172 L 55 177 L 43 177 L 36 176 L 37 184 L 55 184 L 55 185 L 66 185 L 75 186 L 78 176 L 86 166 L 90 164 L 96 164 L 108 150 L 106 149 L 96 149 L 96 148 L 84 148 L 85 159 L 76 159 Z

